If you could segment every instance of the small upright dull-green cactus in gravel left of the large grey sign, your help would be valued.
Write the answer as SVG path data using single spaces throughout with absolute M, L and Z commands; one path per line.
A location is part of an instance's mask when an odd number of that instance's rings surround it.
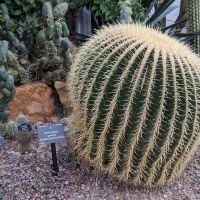
M 21 153 L 24 154 L 30 151 L 31 134 L 27 130 L 17 132 L 16 138 L 21 145 Z

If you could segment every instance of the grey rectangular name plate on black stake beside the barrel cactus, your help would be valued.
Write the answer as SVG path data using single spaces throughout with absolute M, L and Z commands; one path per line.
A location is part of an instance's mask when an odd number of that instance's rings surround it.
M 65 141 L 64 126 L 62 124 L 46 124 L 38 126 L 40 144 L 51 144 Z

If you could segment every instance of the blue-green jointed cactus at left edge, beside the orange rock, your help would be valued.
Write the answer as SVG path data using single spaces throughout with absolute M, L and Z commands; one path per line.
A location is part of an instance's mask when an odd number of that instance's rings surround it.
M 5 41 L 0 41 L 0 61 L 6 58 L 5 44 Z M 0 122 L 6 122 L 10 114 L 8 103 L 13 100 L 16 89 L 13 76 L 5 71 L 2 64 L 0 62 Z

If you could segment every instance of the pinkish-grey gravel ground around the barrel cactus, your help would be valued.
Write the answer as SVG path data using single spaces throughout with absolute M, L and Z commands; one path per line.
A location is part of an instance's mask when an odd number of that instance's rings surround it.
M 60 172 L 53 176 L 50 145 L 39 146 L 35 137 L 30 153 L 21 155 L 17 141 L 6 142 L 0 149 L 3 200 L 200 200 L 200 148 L 174 184 L 146 189 L 96 177 L 79 166 L 66 143 L 56 144 Z

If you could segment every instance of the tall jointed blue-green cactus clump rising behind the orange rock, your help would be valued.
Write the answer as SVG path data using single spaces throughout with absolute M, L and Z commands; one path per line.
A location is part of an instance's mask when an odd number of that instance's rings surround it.
M 43 28 L 35 38 L 38 67 L 34 69 L 46 83 L 64 80 L 72 63 L 69 30 L 64 22 L 67 10 L 68 4 L 61 0 L 45 2 L 42 7 Z

